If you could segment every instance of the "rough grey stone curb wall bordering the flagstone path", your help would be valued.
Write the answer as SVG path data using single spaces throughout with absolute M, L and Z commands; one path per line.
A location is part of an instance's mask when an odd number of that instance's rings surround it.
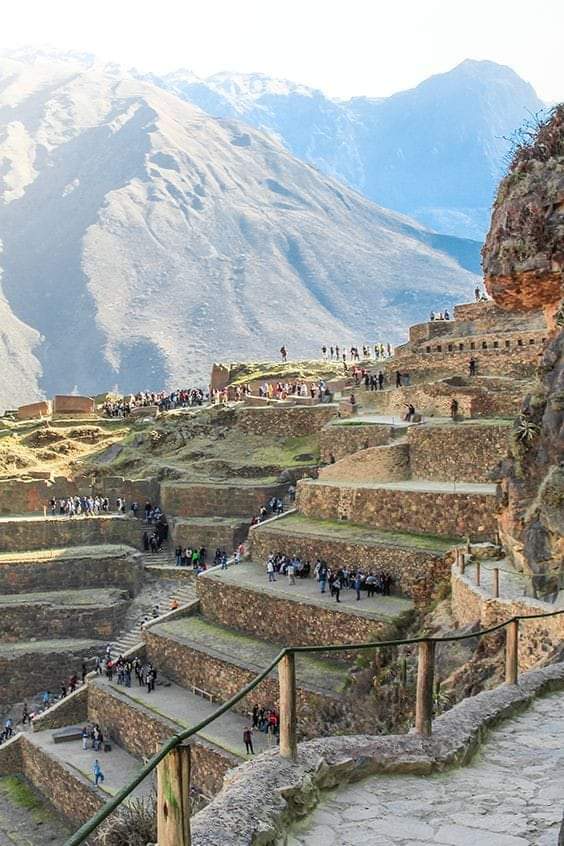
M 564 664 L 555 664 L 527 673 L 519 685 L 464 699 L 434 721 L 430 738 L 406 734 L 310 740 L 299 744 L 296 763 L 276 751 L 265 752 L 230 773 L 221 793 L 192 819 L 192 844 L 285 842 L 291 824 L 311 813 L 323 790 L 373 775 L 430 775 L 466 764 L 490 728 L 522 712 L 536 696 L 562 689 Z

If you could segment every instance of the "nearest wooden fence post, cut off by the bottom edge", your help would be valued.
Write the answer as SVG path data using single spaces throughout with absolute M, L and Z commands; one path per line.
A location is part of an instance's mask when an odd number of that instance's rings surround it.
M 180 744 L 157 766 L 159 846 L 190 846 L 190 746 Z

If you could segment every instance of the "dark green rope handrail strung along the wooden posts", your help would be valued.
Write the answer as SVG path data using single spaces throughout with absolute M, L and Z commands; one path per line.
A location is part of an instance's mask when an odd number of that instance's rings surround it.
M 422 636 L 422 637 L 415 637 L 415 638 L 405 638 L 402 640 L 388 640 L 388 641 L 372 641 L 369 643 L 345 643 L 345 644 L 328 644 L 326 646 L 288 646 L 283 648 L 276 658 L 266 667 L 261 673 L 259 673 L 252 681 L 246 684 L 241 690 L 238 691 L 231 699 L 228 699 L 223 705 L 220 705 L 216 710 L 210 714 L 205 719 L 201 720 L 195 726 L 192 726 L 189 729 L 185 729 L 182 732 L 179 732 L 173 735 L 170 740 L 168 740 L 162 747 L 156 752 L 146 764 L 143 765 L 141 770 L 137 773 L 137 775 L 122 787 L 115 796 L 112 797 L 106 804 L 97 811 L 93 817 L 87 820 L 79 829 L 76 831 L 65 843 L 65 846 L 80 846 L 81 843 L 84 843 L 87 837 L 89 837 L 96 828 L 113 812 L 116 808 L 121 805 L 121 803 L 127 799 L 130 793 L 138 787 L 139 784 L 146 778 L 150 773 L 155 769 L 155 767 L 163 760 L 163 758 L 168 755 L 173 749 L 179 746 L 181 743 L 189 740 L 195 734 L 202 731 L 202 729 L 206 728 L 210 723 L 214 722 L 218 717 L 221 717 L 227 711 L 229 711 L 234 705 L 244 699 L 251 691 L 253 691 L 260 683 L 263 681 L 285 658 L 287 655 L 292 654 L 300 654 L 300 653 L 316 653 L 316 652 L 345 652 L 354 650 L 366 650 L 366 649 L 382 649 L 390 646 L 409 646 L 414 643 L 450 643 L 453 641 L 458 640 L 469 640 L 470 638 L 476 637 L 483 637 L 486 634 L 491 634 L 492 632 L 499 631 L 500 629 L 505 628 L 506 626 L 510 625 L 511 623 L 518 623 L 520 620 L 531 620 L 531 619 L 540 619 L 545 617 L 557 617 L 561 614 L 564 614 L 564 608 L 558 611 L 547 611 L 545 613 L 540 614 L 523 614 L 518 615 L 515 617 L 510 617 L 508 620 L 504 620 L 501 623 L 497 623 L 495 626 L 490 626 L 487 629 L 479 629 L 476 632 L 470 632 L 463 635 L 450 635 L 446 637 L 433 637 L 432 635 L 429 636 Z

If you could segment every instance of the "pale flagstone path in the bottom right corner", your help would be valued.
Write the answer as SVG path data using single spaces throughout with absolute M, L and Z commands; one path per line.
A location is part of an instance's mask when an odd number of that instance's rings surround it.
M 563 808 L 559 693 L 502 724 L 467 767 L 325 794 L 285 846 L 557 846 Z

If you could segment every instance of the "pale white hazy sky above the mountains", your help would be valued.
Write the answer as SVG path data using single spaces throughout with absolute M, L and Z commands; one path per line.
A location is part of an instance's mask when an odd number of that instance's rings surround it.
M 3 0 L 0 46 L 200 76 L 260 71 L 342 97 L 492 59 L 564 100 L 563 32 L 563 0 Z

